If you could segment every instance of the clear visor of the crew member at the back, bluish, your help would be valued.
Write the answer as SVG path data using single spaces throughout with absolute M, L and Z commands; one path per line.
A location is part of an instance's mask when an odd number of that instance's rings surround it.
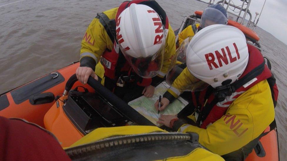
M 205 28 L 215 24 L 227 25 L 227 22 L 228 19 L 221 11 L 214 8 L 206 8 L 201 16 L 201 22 L 199 26 L 201 28 Z

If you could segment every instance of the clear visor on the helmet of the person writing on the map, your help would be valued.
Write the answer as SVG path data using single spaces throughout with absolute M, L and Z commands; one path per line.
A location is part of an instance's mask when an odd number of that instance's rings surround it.
M 166 74 L 166 82 L 178 91 L 202 91 L 209 84 L 196 78 L 186 66 L 186 51 L 191 38 L 186 38 L 176 50 L 176 55 L 171 61 L 171 66 Z M 182 79 L 185 79 L 182 81 Z

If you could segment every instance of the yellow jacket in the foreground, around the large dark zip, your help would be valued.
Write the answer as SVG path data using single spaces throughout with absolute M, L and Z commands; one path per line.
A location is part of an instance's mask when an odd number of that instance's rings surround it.
M 103 140 L 113 136 L 124 136 L 124 135 L 134 135 L 134 134 L 144 134 L 144 133 L 168 133 L 156 126 L 121 126 L 121 127 L 112 127 L 112 128 L 97 128 L 88 135 L 84 136 L 76 143 L 71 145 L 69 148 L 73 148 L 79 145 L 84 145 L 92 143 L 95 141 Z M 68 149 L 66 149 L 68 150 Z M 143 158 L 145 156 L 139 156 Z M 121 158 L 119 158 L 121 159 Z M 187 155 L 184 156 L 173 156 L 169 158 L 164 158 L 163 160 L 210 160 L 210 161 L 223 161 L 224 159 L 219 155 L 216 155 L 208 150 L 203 148 L 191 149 Z

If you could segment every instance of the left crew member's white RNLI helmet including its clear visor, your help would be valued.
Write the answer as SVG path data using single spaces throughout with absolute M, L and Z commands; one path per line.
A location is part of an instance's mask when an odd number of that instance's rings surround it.
M 118 17 L 117 41 L 134 71 L 143 78 L 158 74 L 163 64 L 165 30 L 158 14 L 149 6 L 131 4 Z

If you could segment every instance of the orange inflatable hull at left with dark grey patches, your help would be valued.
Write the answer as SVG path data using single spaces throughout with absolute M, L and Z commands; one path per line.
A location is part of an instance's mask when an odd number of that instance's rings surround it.
M 79 67 L 79 62 L 76 62 L 74 64 L 71 64 L 67 67 L 61 68 L 57 71 L 54 72 L 58 72 L 59 75 L 61 74 L 61 76 L 64 78 L 64 81 L 49 88 L 44 90 L 41 93 L 46 93 L 46 92 L 51 92 L 54 94 L 54 96 L 57 95 L 62 95 L 64 88 L 65 88 L 65 84 L 67 82 L 67 80 L 76 72 L 77 67 Z M 48 75 L 48 74 L 47 74 Z M 47 75 L 44 75 L 42 77 L 45 77 Z M 16 89 L 13 89 L 11 91 L 8 91 L 4 94 L 1 94 L 1 99 L 0 99 L 0 116 L 4 116 L 6 118 L 11 118 L 11 117 L 17 117 L 17 118 L 23 118 L 29 122 L 33 122 L 36 123 L 42 127 L 44 127 L 44 115 L 46 114 L 46 112 L 51 108 L 51 106 L 55 103 L 55 101 L 51 102 L 51 103 L 47 103 L 47 104 L 39 104 L 39 105 L 32 105 L 29 102 L 29 99 L 24 100 L 21 103 L 17 103 L 18 100 L 16 100 L 17 94 L 15 94 L 13 96 L 13 91 L 16 90 L 21 90 L 25 88 L 25 86 L 27 87 L 27 85 L 41 79 L 42 77 L 35 79 L 29 83 L 26 83 L 20 87 L 17 87 Z M 47 82 L 48 83 L 48 82 Z M 45 82 L 44 84 L 45 85 Z M 73 86 L 73 88 L 75 88 L 76 86 L 83 86 L 83 84 L 81 84 L 80 82 L 76 82 Z M 84 87 L 88 88 L 89 91 L 94 91 L 89 85 L 85 85 Z M 29 94 L 29 93 L 27 93 Z M 19 95 L 25 95 L 25 93 L 23 94 L 23 92 L 19 92 Z M 14 97 L 14 99 L 13 99 Z M 15 103 L 16 101 L 16 103 Z M 8 106 L 3 106 L 3 104 L 8 104 Z

